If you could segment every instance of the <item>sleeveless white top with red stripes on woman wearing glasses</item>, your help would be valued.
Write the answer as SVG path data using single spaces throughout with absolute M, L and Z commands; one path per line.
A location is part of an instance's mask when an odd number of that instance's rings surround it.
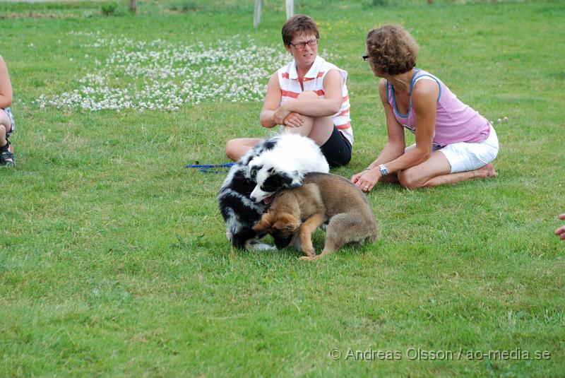
M 349 95 L 347 93 L 347 71 L 338 68 L 335 64 L 328 63 L 322 57 L 316 57 L 314 64 L 310 67 L 309 71 L 304 76 L 304 91 L 312 90 L 323 98 L 323 78 L 328 71 L 336 69 L 343 77 L 343 87 L 341 87 L 341 95 L 343 102 L 341 103 L 340 110 L 333 114 L 333 124 L 345 136 L 347 141 L 353 145 L 353 129 L 351 128 L 350 119 L 350 103 Z M 296 62 L 291 61 L 286 66 L 277 71 L 278 83 L 280 85 L 280 94 L 282 98 L 280 104 L 283 105 L 288 100 L 297 98 L 303 92 L 302 87 L 298 81 L 298 73 L 296 70 Z

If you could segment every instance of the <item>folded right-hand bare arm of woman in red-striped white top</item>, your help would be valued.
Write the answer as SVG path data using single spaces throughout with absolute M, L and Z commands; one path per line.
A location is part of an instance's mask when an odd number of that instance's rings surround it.
M 288 100 L 275 112 L 275 122 L 281 122 L 290 112 L 310 117 L 328 117 L 339 112 L 343 103 L 342 87 L 343 78 L 339 71 L 336 69 L 328 71 L 323 78 L 324 98 Z

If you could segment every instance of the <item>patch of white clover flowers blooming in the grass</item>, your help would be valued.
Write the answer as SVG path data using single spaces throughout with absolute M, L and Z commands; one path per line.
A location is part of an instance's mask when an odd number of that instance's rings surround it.
M 270 73 L 289 60 L 285 52 L 253 41 L 244 48 L 238 36 L 213 45 L 179 46 L 164 40 L 106 40 L 98 32 L 70 34 L 95 37 L 97 42 L 84 47 L 112 47 L 112 52 L 105 61 L 93 59 L 97 69 L 78 79 L 78 90 L 51 98 L 40 95 L 36 102 L 41 108 L 175 111 L 203 101 L 257 101 L 266 92 Z

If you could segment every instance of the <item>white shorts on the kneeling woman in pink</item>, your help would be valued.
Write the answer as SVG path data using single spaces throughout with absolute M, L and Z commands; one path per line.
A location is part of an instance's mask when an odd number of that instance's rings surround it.
M 489 137 L 477 143 L 453 143 L 440 148 L 451 165 L 451 173 L 476 170 L 494 160 L 499 153 L 499 138 L 490 126 Z

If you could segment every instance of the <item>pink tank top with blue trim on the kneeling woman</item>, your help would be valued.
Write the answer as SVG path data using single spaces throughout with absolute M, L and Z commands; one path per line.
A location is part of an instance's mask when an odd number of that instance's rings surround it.
M 463 104 L 439 78 L 422 70 L 417 70 L 412 76 L 408 114 L 398 112 L 394 87 L 388 81 L 386 82 L 388 103 L 393 108 L 394 117 L 398 123 L 412 133 L 416 132 L 416 117 L 412 110 L 412 88 L 420 78 L 434 80 L 439 85 L 439 95 L 436 100 L 436 129 L 432 141 L 436 148 L 459 142 L 481 142 L 489 137 L 491 127 L 489 121 L 476 110 Z

